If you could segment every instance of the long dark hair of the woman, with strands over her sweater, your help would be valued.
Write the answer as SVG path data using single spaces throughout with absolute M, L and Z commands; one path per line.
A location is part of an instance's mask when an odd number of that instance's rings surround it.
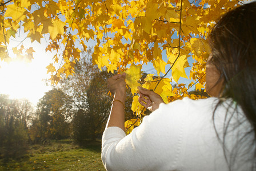
M 256 2 L 237 7 L 223 15 L 216 23 L 209 34 L 209 42 L 212 49 L 213 58 L 210 60 L 221 73 L 221 79 L 224 80 L 223 91 L 217 107 L 223 104 L 227 99 L 232 99 L 229 107 L 235 105 L 242 108 L 247 121 L 251 125 L 245 135 L 239 139 L 239 143 L 247 142 L 248 150 L 254 146 L 252 162 L 256 160 Z M 215 117 L 215 108 L 213 119 Z M 224 132 L 219 140 L 223 143 L 225 153 L 225 135 L 227 127 L 230 126 L 230 120 L 234 117 L 234 113 L 229 115 L 227 109 L 225 117 Z M 242 121 L 241 121 L 242 123 Z M 215 127 L 215 124 L 214 124 Z M 215 127 L 215 131 L 217 129 Z M 218 135 L 218 132 L 217 132 Z M 253 137 L 253 139 L 251 138 Z M 238 145 L 236 146 L 237 148 Z M 250 147 L 249 147 L 250 146 Z M 245 154 L 246 155 L 246 154 Z M 230 170 L 232 167 L 231 160 L 229 162 Z M 255 164 L 253 164 L 255 169 Z

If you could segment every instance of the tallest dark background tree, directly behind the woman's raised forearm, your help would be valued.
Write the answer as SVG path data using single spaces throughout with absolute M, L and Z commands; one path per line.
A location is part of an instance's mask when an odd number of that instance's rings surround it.
M 69 94 L 75 108 L 73 116 L 74 139 L 83 144 L 85 140 L 101 137 L 109 116 L 113 97 L 107 89 L 107 79 L 113 74 L 100 71 L 91 64 L 90 52 L 84 55 L 75 66 L 75 74 L 60 81 L 62 90 Z M 130 97 L 130 98 L 129 98 Z M 133 97 L 127 91 L 127 119 L 133 115 Z

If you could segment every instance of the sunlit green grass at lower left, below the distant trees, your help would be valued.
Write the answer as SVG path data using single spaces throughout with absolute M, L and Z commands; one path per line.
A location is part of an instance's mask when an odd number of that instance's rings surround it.
M 3 162 L 0 170 L 105 170 L 101 161 L 101 143 L 88 143 L 84 148 L 69 140 L 33 145 L 19 159 Z

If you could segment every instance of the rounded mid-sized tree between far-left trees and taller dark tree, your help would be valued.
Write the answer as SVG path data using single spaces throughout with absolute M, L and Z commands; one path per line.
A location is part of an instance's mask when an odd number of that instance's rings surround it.
M 37 104 L 37 118 L 30 128 L 31 140 L 38 142 L 69 137 L 72 107 L 68 99 L 56 88 L 45 93 Z

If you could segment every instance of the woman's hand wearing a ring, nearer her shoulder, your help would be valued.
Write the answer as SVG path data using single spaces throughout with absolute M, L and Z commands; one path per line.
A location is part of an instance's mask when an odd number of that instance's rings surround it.
M 160 103 L 165 103 L 160 95 L 150 91 L 146 88 L 138 87 L 139 89 L 139 103 L 146 107 L 151 112 L 159 108 Z

